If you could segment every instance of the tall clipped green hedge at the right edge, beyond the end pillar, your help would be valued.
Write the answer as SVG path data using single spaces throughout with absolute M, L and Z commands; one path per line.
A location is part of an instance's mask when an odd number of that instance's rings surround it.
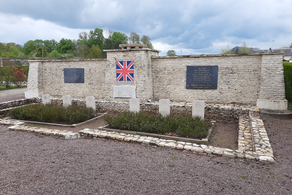
M 286 99 L 292 101 L 292 63 L 283 62 Z

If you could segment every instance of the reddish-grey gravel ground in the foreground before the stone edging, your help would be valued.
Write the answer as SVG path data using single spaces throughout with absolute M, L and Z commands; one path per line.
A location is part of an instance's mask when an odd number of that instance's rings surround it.
M 272 120 L 264 122 L 275 126 Z M 292 194 L 288 130 L 268 132 L 277 160 L 261 165 L 107 139 L 63 140 L 6 129 L 0 125 L 0 194 Z

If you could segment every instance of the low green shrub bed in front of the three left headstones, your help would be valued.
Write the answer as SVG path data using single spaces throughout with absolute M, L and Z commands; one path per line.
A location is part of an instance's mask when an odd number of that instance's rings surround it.
M 65 109 L 51 104 L 34 104 L 12 109 L 10 114 L 18 120 L 74 124 L 88 120 L 94 116 L 94 111 L 86 106 L 68 106 Z

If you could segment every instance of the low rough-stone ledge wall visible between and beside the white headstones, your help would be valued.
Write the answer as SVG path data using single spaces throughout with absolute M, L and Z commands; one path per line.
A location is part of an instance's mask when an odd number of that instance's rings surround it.
M 41 97 L 36 98 L 36 103 L 42 103 Z M 62 105 L 62 97 L 51 97 L 51 103 Z M 73 105 L 86 105 L 85 98 L 72 98 Z M 159 113 L 158 101 L 140 103 L 140 110 L 148 113 Z M 129 111 L 129 102 L 95 100 L 96 111 L 99 113 L 117 113 Z M 234 121 L 239 116 L 248 116 L 248 111 L 253 106 L 248 105 L 223 105 L 205 104 L 205 118 L 209 120 Z M 192 115 L 192 102 L 171 102 L 171 115 Z

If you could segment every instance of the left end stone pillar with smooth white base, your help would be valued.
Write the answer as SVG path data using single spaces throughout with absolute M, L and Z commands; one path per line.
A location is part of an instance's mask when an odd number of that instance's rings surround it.
M 44 94 L 42 87 L 42 62 L 38 60 L 29 61 L 29 71 L 27 78 L 27 91 L 25 98 L 38 97 Z

